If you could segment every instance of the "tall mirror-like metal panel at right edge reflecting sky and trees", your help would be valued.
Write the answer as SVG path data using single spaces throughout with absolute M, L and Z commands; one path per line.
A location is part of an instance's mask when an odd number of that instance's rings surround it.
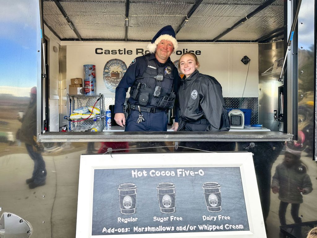
M 303 1 L 298 16 L 298 141 L 313 157 L 314 148 L 314 14 L 313 0 Z

